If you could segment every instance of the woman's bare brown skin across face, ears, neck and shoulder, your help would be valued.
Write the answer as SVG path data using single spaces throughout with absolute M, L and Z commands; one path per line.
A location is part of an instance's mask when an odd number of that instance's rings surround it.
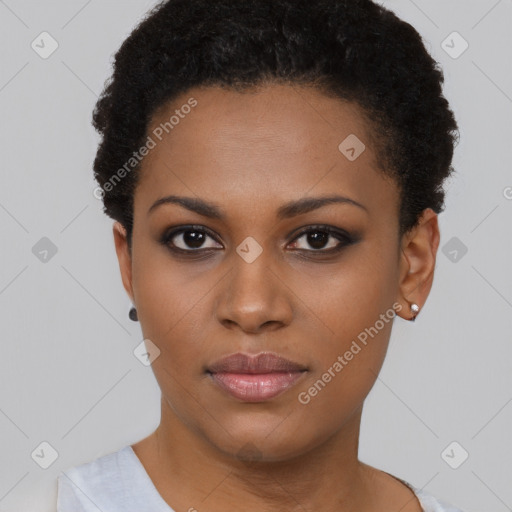
M 296 86 L 243 94 L 195 88 L 162 108 L 148 134 L 190 97 L 198 105 L 143 162 L 131 252 L 123 226 L 113 229 L 144 338 L 161 350 L 152 364 L 161 423 L 133 445 L 135 453 L 177 512 L 225 512 L 240 503 L 247 512 L 420 511 L 404 484 L 358 460 L 363 403 L 392 322 L 307 405 L 298 394 L 393 303 L 405 319 L 414 316 L 411 303 L 425 304 L 440 238 L 437 215 L 426 209 L 419 226 L 398 239 L 398 189 L 378 171 L 355 104 Z M 353 162 L 338 150 L 352 133 L 366 144 Z M 330 204 L 276 218 L 286 202 L 333 193 L 366 210 Z M 226 219 L 175 204 L 148 214 L 170 194 L 214 202 Z M 203 246 L 214 248 L 209 255 L 175 256 L 159 242 L 168 228 L 187 224 L 216 235 L 205 238 Z M 314 224 L 357 233 L 359 241 L 322 255 L 340 242 L 331 235 L 315 246 L 307 235 L 297 237 Z M 250 264 L 236 252 L 248 236 L 263 248 Z M 203 247 L 184 240 L 173 238 L 191 252 Z M 308 371 L 285 393 L 253 404 L 221 391 L 205 372 L 226 355 L 262 351 Z M 251 461 L 251 446 L 258 460 Z

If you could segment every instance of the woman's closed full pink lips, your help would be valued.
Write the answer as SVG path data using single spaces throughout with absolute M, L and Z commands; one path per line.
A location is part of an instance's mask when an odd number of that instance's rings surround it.
M 304 366 L 270 352 L 225 357 L 208 368 L 221 389 L 244 402 L 262 402 L 292 387 L 306 371 Z

